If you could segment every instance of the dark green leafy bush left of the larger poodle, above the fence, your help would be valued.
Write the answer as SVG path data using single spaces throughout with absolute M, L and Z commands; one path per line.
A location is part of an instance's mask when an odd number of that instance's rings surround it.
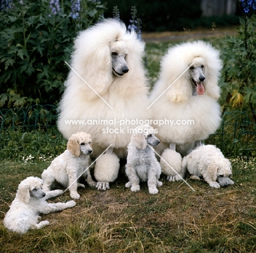
M 81 1 L 80 16 L 71 16 L 71 1 L 61 1 L 54 15 L 48 0 L 14 1 L 0 15 L 0 107 L 54 104 L 69 71 L 75 35 L 103 18 L 99 1 Z

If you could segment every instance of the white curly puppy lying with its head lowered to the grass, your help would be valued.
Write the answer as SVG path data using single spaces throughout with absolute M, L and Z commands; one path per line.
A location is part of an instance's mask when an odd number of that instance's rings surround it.
M 184 170 L 188 168 L 191 178 L 203 177 L 213 188 L 234 184 L 230 161 L 214 145 L 202 145 L 194 149 L 182 161 Z

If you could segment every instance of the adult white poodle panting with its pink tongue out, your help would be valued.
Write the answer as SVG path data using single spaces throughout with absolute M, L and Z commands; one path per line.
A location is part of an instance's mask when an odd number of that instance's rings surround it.
M 220 125 L 217 99 L 221 69 L 219 51 L 203 41 L 173 46 L 162 58 L 150 109 L 154 120 L 164 121 L 153 127 L 158 129 L 156 136 L 161 141 L 157 151 L 174 169 L 162 166 L 162 173 L 170 181 L 181 179 L 178 174 L 184 175 L 182 156 L 200 146 L 201 140 Z

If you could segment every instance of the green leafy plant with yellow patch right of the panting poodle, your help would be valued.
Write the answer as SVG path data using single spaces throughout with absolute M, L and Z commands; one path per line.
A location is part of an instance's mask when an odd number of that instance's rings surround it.
M 225 107 L 255 110 L 256 15 L 241 18 L 237 32 L 235 37 L 226 36 L 222 47 Z

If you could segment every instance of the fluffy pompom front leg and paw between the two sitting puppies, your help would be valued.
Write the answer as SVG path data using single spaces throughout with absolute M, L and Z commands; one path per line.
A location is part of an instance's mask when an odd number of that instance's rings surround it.
M 98 190 L 109 189 L 109 182 L 114 182 L 118 177 L 119 158 L 115 154 L 103 154 L 98 158 L 95 164 L 94 176 L 98 181 L 96 188 Z

